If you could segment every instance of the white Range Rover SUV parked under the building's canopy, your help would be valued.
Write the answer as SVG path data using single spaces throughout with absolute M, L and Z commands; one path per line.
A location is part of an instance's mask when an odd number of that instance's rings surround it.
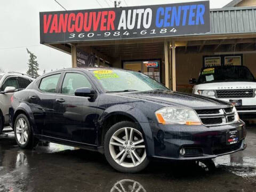
M 196 80 L 189 80 L 193 93 L 228 101 L 242 117 L 256 118 L 256 81 L 245 66 L 203 68 Z

